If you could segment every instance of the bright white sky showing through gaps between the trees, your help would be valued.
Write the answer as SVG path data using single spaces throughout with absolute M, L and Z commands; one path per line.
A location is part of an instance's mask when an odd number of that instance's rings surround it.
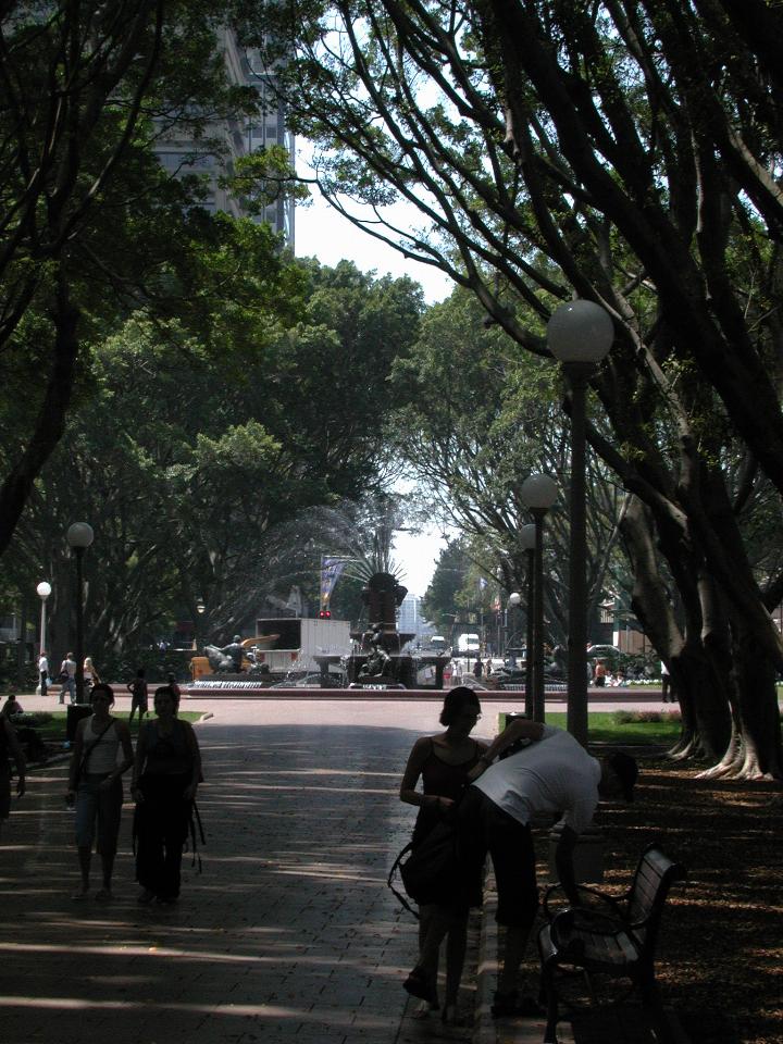
M 399 213 L 400 208 L 397 208 Z M 421 216 L 410 208 L 411 225 L 421 224 Z M 361 232 L 337 213 L 323 199 L 313 199 L 309 207 L 296 211 L 296 253 L 299 258 L 314 257 L 322 264 L 335 265 L 349 260 L 362 272 L 375 271 L 377 276 L 408 275 L 421 283 L 427 303 L 440 301 L 451 293 L 452 284 L 443 273 L 402 257 L 401 253 Z M 445 540 L 442 526 L 414 535 L 397 533 L 394 559 L 405 572 L 402 583 L 413 595 L 423 595 L 435 570 L 435 561 Z

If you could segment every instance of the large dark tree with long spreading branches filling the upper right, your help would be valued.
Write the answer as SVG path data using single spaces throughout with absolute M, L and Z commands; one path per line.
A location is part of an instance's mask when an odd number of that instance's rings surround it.
M 783 645 L 736 555 L 721 468 L 742 443 L 783 489 L 780 74 L 765 42 L 781 16 L 749 10 L 360 0 L 271 13 L 297 48 L 286 97 L 322 147 L 320 185 L 373 206 L 371 234 L 443 268 L 535 355 L 572 291 L 610 311 L 616 346 L 594 387 L 612 435 L 591 439 L 643 505 L 625 523 L 637 614 L 693 704 L 696 746 L 720 757 L 725 744 L 717 682 L 734 725 L 721 771 L 780 775 Z M 431 227 L 384 222 L 397 198 Z M 650 548 L 678 584 L 683 632 L 658 616 Z

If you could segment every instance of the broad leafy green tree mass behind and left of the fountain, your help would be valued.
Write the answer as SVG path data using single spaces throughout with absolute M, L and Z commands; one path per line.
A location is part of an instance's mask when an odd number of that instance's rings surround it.
M 213 221 L 212 246 L 192 247 L 198 293 L 181 321 L 137 312 L 92 346 L 95 391 L 74 411 L 14 536 L 20 585 L 45 563 L 54 577 L 52 634 L 63 643 L 62 520 L 89 519 L 85 619 L 103 657 L 149 645 L 176 620 L 199 620 L 224 641 L 258 614 L 264 594 L 293 583 L 318 592 L 320 555 L 334 548 L 324 517 L 307 535 L 304 517 L 359 499 L 383 469 L 388 369 L 415 335 L 420 289 L 351 266 L 337 275 L 285 263 L 268 229 Z M 349 368 L 320 371 L 326 346 L 335 360 L 361 352 L 361 394 Z M 311 409 L 303 397 L 319 377 Z

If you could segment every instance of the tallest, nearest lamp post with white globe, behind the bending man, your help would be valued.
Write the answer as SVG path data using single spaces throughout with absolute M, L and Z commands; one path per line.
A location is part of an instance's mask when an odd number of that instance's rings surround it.
M 585 507 L 585 406 L 587 384 L 614 339 L 608 312 L 593 301 L 571 301 L 552 314 L 547 341 L 571 386 L 569 513 L 568 729 L 587 743 L 587 527 Z

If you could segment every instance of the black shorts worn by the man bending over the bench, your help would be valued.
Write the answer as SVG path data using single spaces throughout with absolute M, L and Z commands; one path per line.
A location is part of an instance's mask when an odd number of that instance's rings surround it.
M 498 924 L 531 928 L 538 909 L 538 887 L 530 826 L 502 811 L 475 786 L 465 792 L 459 821 L 467 872 L 483 866 L 487 853 L 492 856 Z

